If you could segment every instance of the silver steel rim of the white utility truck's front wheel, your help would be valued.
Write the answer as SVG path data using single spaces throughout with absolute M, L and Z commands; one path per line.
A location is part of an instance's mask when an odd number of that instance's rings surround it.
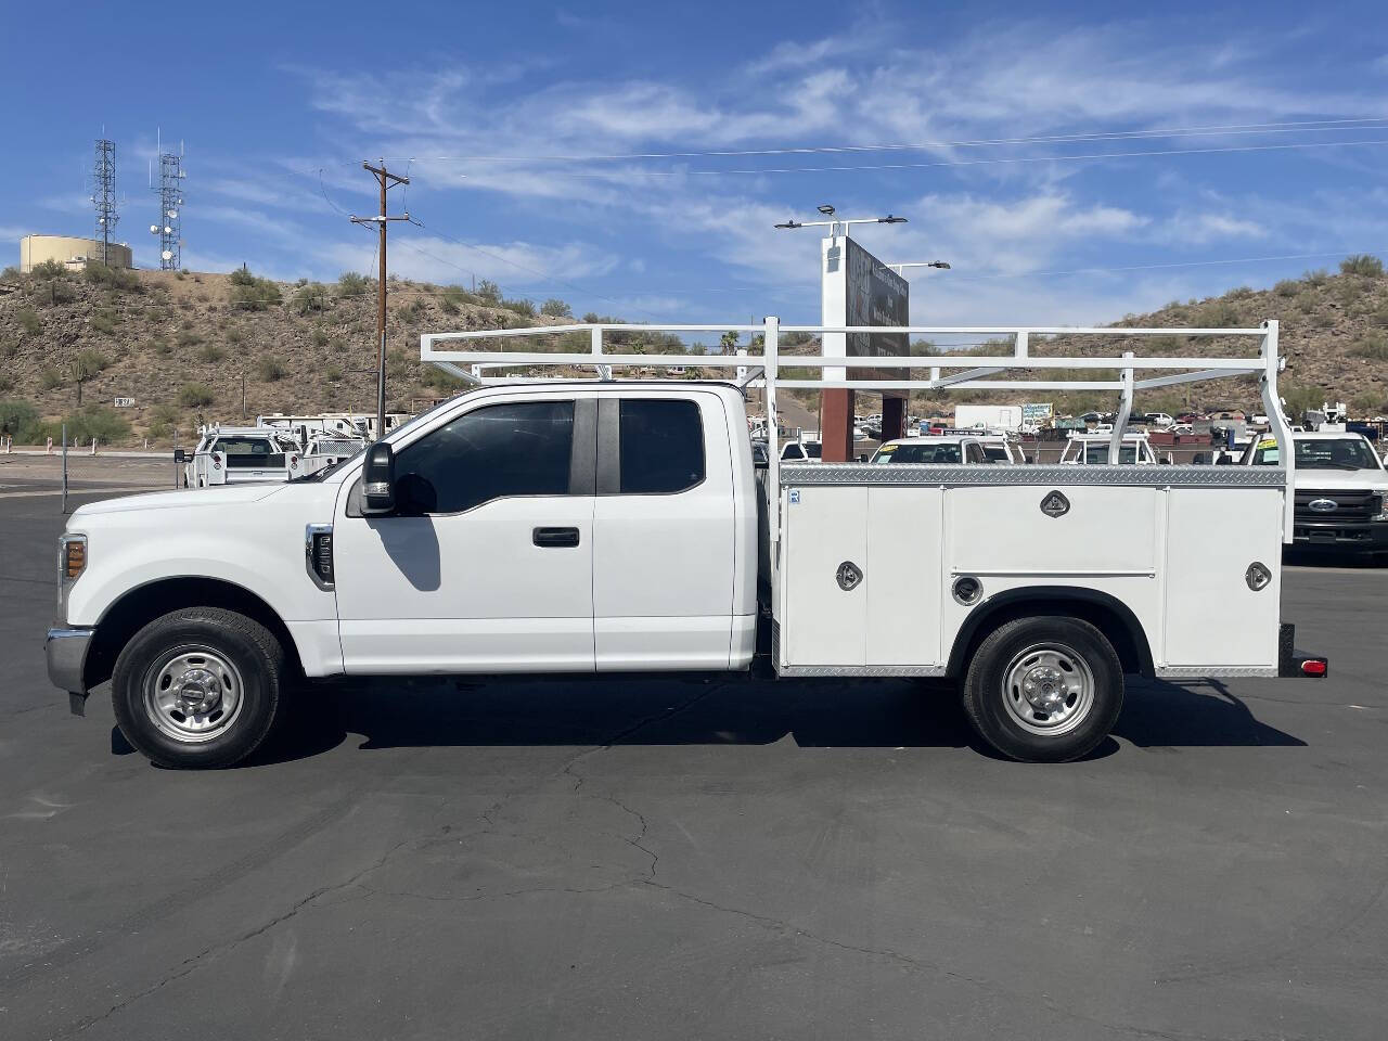
M 175 741 L 211 741 L 242 712 L 242 675 L 210 647 L 165 652 L 144 675 L 144 712 Z

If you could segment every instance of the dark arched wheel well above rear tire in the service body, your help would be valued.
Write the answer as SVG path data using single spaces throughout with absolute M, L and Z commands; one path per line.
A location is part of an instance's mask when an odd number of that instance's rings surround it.
M 954 648 L 949 651 L 947 672 L 962 676 L 969 668 L 974 650 L 988 633 L 1019 618 L 1055 615 L 1088 622 L 1113 645 L 1123 672 L 1151 677 L 1152 648 L 1137 616 L 1123 601 L 1098 590 L 1067 587 L 1029 587 L 1008 590 L 980 604 L 965 619 Z

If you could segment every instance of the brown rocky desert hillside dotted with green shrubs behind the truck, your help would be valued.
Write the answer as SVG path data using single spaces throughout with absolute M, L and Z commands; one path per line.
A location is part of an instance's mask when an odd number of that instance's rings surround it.
M 1337 273 L 1307 272 L 1271 289 L 1239 287 L 1130 315 L 1115 325 L 1112 343 L 1090 343 L 1085 350 L 1219 354 L 1231 344 L 1187 343 L 1174 335 L 1124 340 L 1122 329 L 1255 326 L 1269 318 L 1281 322 L 1281 351 L 1288 359 L 1281 391 L 1294 411 L 1328 398 L 1351 403 L 1356 414 L 1388 412 L 1388 278 L 1373 257 L 1348 258 Z M 527 300 L 501 298 L 487 283 L 469 291 L 391 282 L 389 407 L 415 411 L 459 387 L 458 380 L 419 365 L 421 332 L 566 321 L 573 319 L 562 301 L 550 300 L 537 310 Z M 19 443 L 42 440 L 65 419 L 79 440 L 139 443 L 147 437 L 167 444 L 175 429 L 186 441 L 208 419 L 369 411 L 375 405 L 375 283 L 359 275 L 322 285 L 269 282 L 246 271 L 126 272 L 97 265 L 81 273 L 49 268 L 19 275 L 7 269 L 0 278 L 0 423 Z M 557 335 L 545 337 L 545 344 L 586 350 L 587 339 Z M 658 336 L 627 346 L 651 354 L 680 350 L 673 337 Z M 930 354 L 933 348 L 917 344 L 915 350 Z M 1059 344 L 1034 350 L 1059 350 Z M 117 397 L 135 404 L 114 408 Z M 947 408 L 983 397 L 1020 401 L 1029 396 L 972 391 L 933 401 Z M 1112 404 L 1085 394 L 1041 400 L 1055 400 L 1059 411 Z M 1141 408 L 1169 412 L 1252 404 L 1246 382 L 1191 384 L 1140 401 Z M 930 405 L 931 400 L 922 400 L 913 409 Z

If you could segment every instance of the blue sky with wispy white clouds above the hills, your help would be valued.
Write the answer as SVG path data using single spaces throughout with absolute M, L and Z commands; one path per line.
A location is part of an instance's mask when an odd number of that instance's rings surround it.
M 954 265 L 912 275 L 917 323 L 1108 321 L 1388 254 L 1381 3 L 7 8 L 14 257 L 90 233 L 103 125 L 140 266 L 162 128 L 192 269 L 368 269 L 344 214 L 386 155 L 423 225 L 393 225 L 393 271 L 644 321 L 818 321 L 816 235 L 772 225 L 820 203 L 908 217 L 858 236 L 884 261 Z M 731 151 L 773 154 L 706 154 Z

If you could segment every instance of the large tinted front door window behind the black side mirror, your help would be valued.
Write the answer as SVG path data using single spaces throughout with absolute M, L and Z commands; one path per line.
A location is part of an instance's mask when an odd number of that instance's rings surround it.
M 400 512 L 461 514 L 508 496 L 566 496 L 573 403 L 487 405 L 401 450 Z

